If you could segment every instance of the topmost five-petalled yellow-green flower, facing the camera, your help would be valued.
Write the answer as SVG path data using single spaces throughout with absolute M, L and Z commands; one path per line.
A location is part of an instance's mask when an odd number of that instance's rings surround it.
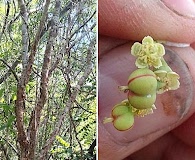
M 142 40 L 142 44 L 135 42 L 131 47 L 131 54 L 137 57 L 135 65 L 138 68 L 162 66 L 161 58 L 165 54 L 164 46 L 156 43 L 152 37 L 147 36 Z

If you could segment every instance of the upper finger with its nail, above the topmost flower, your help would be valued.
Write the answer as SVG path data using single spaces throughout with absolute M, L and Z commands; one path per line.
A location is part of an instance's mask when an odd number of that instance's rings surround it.
M 99 0 L 99 33 L 110 37 L 192 43 L 195 35 L 193 0 Z

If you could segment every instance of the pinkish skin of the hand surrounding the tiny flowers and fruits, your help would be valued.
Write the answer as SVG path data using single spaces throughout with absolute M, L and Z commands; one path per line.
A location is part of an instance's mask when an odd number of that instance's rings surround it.
M 99 0 L 98 7 L 99 159 L 195 159 L 195 27 L 192 27 L 195 19 L 154 0 Z M 110 116 L 112 107 L 125 98 L 117 86 L 126 85 L 129 74 L 135 69 L 130 47 L 147 35 L 155 40 L 191 44 L 183 48 L 165 47 L 166 54 L 173 55 L 169 60 L 174 63 L 170 66 L 180 73 L 180 90 L 158 95 L 157 109 L 152 115 L 136 118 L 135 125 L 128 131 L 117 131 L 112 123 L 102 121 Z M 164 107 L 166 104 L 168 109 Z

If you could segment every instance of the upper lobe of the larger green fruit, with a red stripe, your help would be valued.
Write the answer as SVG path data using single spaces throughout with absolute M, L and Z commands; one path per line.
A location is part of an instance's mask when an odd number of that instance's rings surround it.
M 128 79 L 130 91 L 139 95 L 148 95 L 156 92 L 157 80 L 154 72 L 147 68 L 137 69 Z

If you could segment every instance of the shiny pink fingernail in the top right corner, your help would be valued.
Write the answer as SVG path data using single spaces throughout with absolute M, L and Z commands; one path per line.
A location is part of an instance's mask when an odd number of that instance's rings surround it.
M 195 17 L 194 0 L 162 0 L 162 2 L 179 15 Z

